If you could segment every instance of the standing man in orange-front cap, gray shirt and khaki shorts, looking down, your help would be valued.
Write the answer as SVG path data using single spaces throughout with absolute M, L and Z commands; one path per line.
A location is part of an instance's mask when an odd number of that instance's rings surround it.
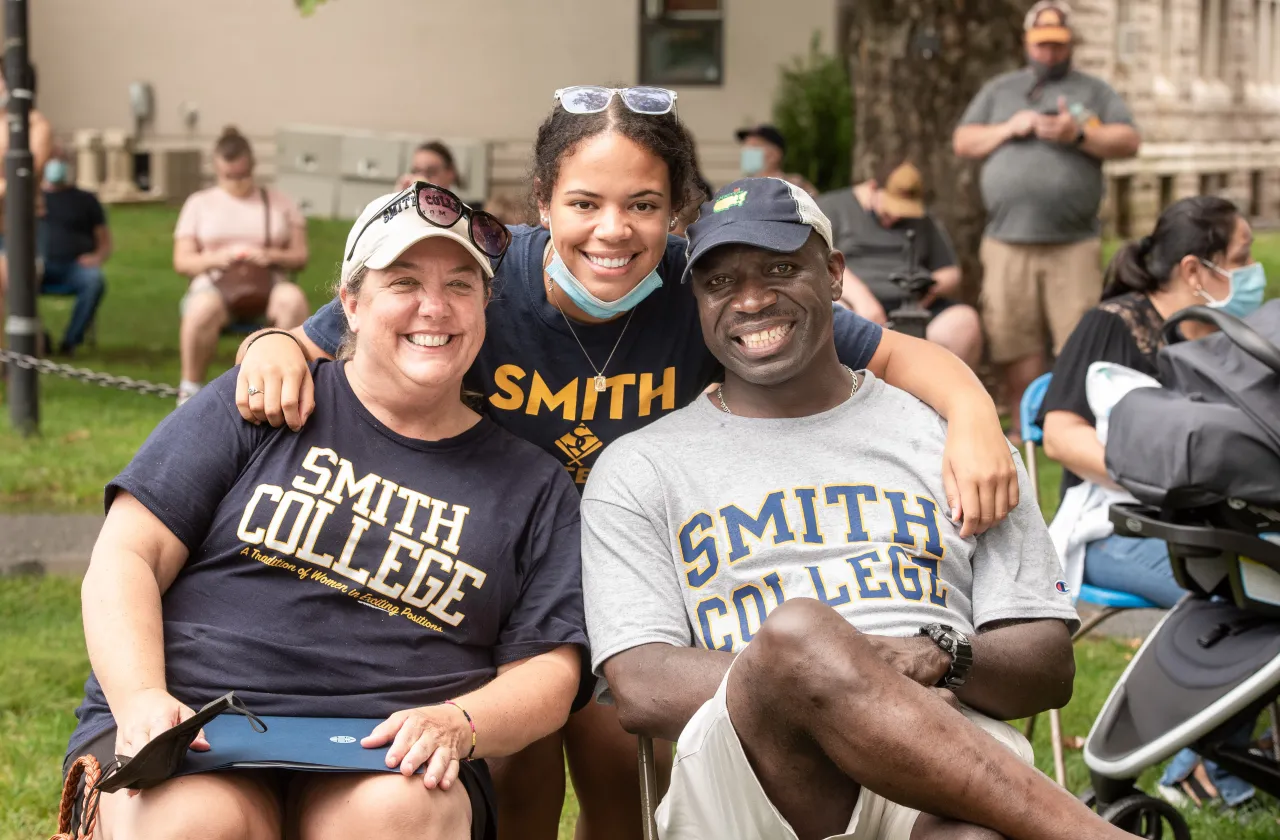
M 1102 161 L 1133 158 L 1140 138 L 1124 100 L 1071 67 L 1070 8 L 1027 15 L 1028 67 L 987 82 L 955 131 L 956 155 L 986 160 L 982 316 L 1005 405 L 1044 373 L 1102 296 Z

